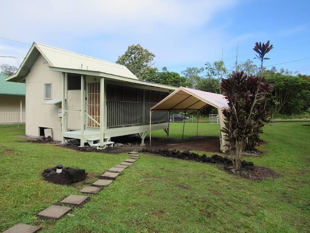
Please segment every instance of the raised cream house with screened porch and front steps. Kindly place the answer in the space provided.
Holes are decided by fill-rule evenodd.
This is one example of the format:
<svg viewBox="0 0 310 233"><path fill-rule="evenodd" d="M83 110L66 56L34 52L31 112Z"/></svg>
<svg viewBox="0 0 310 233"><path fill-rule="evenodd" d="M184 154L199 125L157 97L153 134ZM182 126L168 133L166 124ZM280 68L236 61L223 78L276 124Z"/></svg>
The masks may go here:
<svg viewBox="0 0 310 233"><path fill-rule="evenodd" d="M26 83L26 135L79 139L105 148L112 137L149 131L149 109L175 87L140 81L125 66L33 43L15 75ZM168 113L153 116L153 130L169 127Z"/></svg>

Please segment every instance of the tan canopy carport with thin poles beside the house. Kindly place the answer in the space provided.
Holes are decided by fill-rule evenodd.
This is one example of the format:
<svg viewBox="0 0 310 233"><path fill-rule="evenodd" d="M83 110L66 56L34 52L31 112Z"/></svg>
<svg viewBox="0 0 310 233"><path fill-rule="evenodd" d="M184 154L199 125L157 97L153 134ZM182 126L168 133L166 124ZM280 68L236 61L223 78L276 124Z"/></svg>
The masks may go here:
<svg viewBox="0 0 310 233"><path fill-rule="evenodd" d="M199 119L199 110L206 107L207 105L211 105L217 108L218 120L220 129L224 127L224 118L223 110L229 108L228 101L225 99L225 96L195 90L186 87L179 87L175 91L173 91L169 96L165 99L161 100L155 106L150 109L150 144L152 143L151 132L152 132L152 113L153 112L171 112L171 111L196 111L197 112L197 133L198 133L198 119ZM183 133L184 133L184 125L183 125ZM168 129L169 135L169 129ZM227 145L227 142L224 140L222 132L219 132L219 141L220 141L220 150L225 152L228 147L224 147Z"/></svg>

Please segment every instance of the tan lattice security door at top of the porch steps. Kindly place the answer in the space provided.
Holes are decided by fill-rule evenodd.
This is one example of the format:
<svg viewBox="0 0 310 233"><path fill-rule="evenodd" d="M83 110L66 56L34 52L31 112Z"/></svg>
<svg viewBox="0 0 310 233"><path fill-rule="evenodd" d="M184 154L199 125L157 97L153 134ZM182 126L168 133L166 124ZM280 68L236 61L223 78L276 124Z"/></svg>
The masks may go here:
<svg viewBox="0 0 310 233"><path fill-rule="evenodd" d="M100 123L100 83L88 83L88 114ZM88 127L99 128L100 125L88 117Z"/></svg>

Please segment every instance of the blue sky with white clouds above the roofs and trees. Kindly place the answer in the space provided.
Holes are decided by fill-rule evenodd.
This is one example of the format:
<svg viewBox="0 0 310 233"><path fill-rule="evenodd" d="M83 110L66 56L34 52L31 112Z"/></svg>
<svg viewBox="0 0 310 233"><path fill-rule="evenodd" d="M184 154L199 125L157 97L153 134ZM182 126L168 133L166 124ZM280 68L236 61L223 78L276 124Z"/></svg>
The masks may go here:
<svg viewBox="0 0 310 233"><path fill-rule="evenodd" d="M255 57L255 42L270 40L264 66L310 75L309 9L309 0L4 1L0 64L18 67L3 56L22 62L33 41L110 62L139 43L159 70L180 73L222 58L233 68L237 44L242 62Z"/></svg>

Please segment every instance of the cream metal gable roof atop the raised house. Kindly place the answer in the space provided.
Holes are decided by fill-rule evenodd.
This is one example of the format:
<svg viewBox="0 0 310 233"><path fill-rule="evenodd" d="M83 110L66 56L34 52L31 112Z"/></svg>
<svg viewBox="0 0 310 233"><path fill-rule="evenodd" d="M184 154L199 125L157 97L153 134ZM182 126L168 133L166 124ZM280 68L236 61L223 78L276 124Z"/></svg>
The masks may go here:
<svg viewBox="0 0 310 233"><path fill-rule="evenodd" d="M138 80L138 78L123 65L35 42L33 42L31 49L18 68L16 74L10 76L6 80L11 82L25 82L26 76L29 74L31 67L40 54L46 59L49 67L98 71L104 74Z"/></svg>

